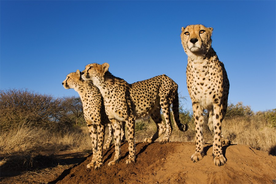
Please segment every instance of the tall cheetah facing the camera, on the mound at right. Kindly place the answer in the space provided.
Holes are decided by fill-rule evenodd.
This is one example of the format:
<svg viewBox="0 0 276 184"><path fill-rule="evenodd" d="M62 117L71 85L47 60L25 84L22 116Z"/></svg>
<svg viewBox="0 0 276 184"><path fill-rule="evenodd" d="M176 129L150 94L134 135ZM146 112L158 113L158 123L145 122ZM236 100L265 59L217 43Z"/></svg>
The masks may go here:
<svg viewBox="0 0 276 184"><path fill-rule="evenodd" d="M188 25L182 27L180 35L184 51L188 55L186 69L187 88L192 100L196 151L191 160L197 162L204 156L202 123L204 121L203 111L209 112L208 125L214 131L213 161L215 165L224 165L226 159L222 154L221 125L227 110L229 94L229 80L224 64L219 61L213 50L211 35L213 28L203 25Z"/></svg>

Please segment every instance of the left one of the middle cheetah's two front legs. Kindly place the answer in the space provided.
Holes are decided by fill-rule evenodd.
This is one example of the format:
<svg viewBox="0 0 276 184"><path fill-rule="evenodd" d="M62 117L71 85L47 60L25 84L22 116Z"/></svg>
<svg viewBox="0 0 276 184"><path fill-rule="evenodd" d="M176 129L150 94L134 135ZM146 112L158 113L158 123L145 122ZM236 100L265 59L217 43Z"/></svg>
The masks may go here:
<svg viewBox="0 0 276 184"><path fill-rule="evenodd" d="M121 158L121 123L115 119L111 119L110 121L112 123L112 128L114 132L115 156L114 159L107 164L108 166L118 163L119 159Z"/></svg>

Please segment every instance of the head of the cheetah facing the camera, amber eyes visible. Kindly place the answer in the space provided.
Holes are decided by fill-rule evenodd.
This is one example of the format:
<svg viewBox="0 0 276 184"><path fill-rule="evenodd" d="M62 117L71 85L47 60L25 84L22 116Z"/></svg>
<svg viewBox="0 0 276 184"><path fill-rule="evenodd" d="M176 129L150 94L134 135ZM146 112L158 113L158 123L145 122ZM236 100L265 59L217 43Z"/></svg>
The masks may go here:
<svg viewBox="0 0 276 184"><path fill-rule="evenodd" d="M211 35L213 28L206 28L204 25L188 25L182 27L180 35L184 51L189 57L202 56L211 48Z"/></svg>

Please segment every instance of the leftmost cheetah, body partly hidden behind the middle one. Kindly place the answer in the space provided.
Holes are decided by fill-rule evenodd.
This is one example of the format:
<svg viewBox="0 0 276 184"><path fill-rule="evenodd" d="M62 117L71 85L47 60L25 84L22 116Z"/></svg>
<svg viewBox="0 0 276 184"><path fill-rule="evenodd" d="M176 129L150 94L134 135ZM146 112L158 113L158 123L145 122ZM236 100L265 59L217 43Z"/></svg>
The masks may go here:
<svg viewBox="0 0 276 184"><path fill-rule="evenodd" d="M65 89L74 89L79 93L82 101L83 113L86 124L89 129L90 138L92 140L93 157L87 168L94 167L95 170L102 166L102 149L110 148L113 134L110 121L105 113L103 98L99 89L93 85L92 81L83 81L79 70L72 72L66 76L62 82ZM108 125L109 136L104 143L105 126ZM125 123L123 123L125 125ZM122 141L125 140L124 129L122 129ZM97 136L98 131L98 136Z"/></svg>

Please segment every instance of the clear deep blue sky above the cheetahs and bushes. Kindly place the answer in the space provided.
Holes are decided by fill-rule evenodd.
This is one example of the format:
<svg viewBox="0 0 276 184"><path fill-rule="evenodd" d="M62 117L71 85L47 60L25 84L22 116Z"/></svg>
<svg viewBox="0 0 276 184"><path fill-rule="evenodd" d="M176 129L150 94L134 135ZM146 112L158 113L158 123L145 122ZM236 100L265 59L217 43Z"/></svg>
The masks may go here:
<svg viewBox="0 0 276 184"><path fill-rule="evenodd" d="M128 83L166 74L191 100L181 27L213 27L228 102L276 108L276 1L0 1L1 90L78 96L61 82L89 63Z"/></svg>

